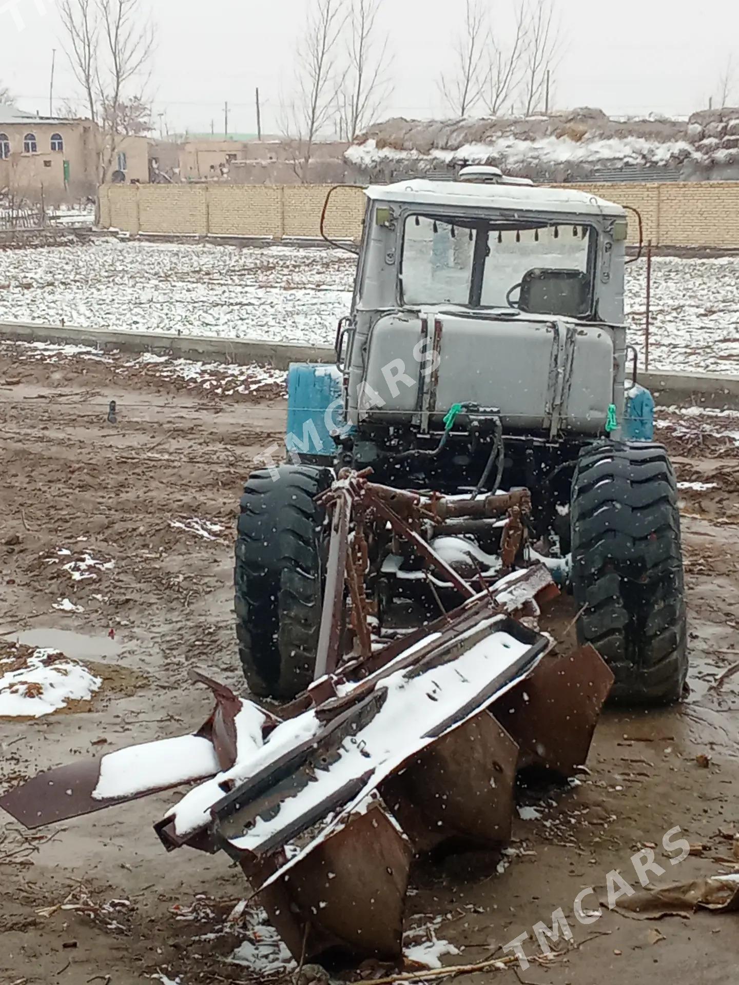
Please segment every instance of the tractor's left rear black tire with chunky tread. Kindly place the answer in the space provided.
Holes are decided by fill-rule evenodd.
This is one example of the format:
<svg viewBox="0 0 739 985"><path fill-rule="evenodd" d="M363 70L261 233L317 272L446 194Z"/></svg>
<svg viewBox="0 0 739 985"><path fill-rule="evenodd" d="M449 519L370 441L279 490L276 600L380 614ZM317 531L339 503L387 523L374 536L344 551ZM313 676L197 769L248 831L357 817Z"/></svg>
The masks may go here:
<svg viewBox="0 0 739 985"><path fill-rule="evenodd" d="M290 699L313 679L322 602L325 511L314 497L333 473L281 465L254 472L235 545L238 654L249 689Z"/></svg>

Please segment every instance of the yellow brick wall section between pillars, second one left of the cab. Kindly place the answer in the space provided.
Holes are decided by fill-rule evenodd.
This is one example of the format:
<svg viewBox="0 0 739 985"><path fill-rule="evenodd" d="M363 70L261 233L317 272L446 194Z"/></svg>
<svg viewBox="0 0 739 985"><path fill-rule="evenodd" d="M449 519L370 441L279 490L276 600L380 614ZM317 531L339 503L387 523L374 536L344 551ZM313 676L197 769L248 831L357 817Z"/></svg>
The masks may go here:
<svg viewBox="0 0 739 985"><path fill-rule="evenodd" d="M212 235L283 235L281 185L213 185L208 192Z"/></svg>

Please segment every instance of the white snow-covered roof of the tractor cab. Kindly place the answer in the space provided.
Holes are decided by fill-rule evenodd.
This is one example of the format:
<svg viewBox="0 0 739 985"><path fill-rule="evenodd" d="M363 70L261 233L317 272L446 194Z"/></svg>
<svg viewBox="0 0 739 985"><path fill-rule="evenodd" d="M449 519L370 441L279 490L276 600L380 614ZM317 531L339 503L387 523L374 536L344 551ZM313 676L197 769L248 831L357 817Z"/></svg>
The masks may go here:
<svg viewBox="0 0 739 985"><path fill-rule="evenodd" d="M553 215L611 216L623 219L620 205L576 188L508 185L472 181L432 181L411 178L388 185L370 185L368 198L415 206L463 209L517 209Z"/></svg>

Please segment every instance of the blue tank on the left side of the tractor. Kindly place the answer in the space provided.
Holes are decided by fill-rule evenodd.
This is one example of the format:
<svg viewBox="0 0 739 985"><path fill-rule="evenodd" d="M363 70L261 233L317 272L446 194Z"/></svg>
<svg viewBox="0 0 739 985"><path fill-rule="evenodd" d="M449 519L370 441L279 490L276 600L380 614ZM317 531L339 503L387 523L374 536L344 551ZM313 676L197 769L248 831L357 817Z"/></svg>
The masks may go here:
<svg viewBox="0 0 739 985"><path fill-rule="evenodd" d="M288 451L302 456L333 458L336 442L331 431L343 427L344 423L342 376L338 368L312 362L291 362L285 435Z"/></svg>

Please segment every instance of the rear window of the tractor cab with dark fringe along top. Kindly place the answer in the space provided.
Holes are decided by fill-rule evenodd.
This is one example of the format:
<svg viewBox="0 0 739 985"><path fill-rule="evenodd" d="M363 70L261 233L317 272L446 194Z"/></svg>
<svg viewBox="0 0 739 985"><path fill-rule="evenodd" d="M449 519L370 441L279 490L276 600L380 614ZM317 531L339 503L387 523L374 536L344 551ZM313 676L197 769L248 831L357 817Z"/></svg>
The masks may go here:
<svg viewBox="0 0 739 985"><path fill-rule="evenodd" d="M582 317L592 308L594 247L589 226L409 216L403 301Z"/></svg>

